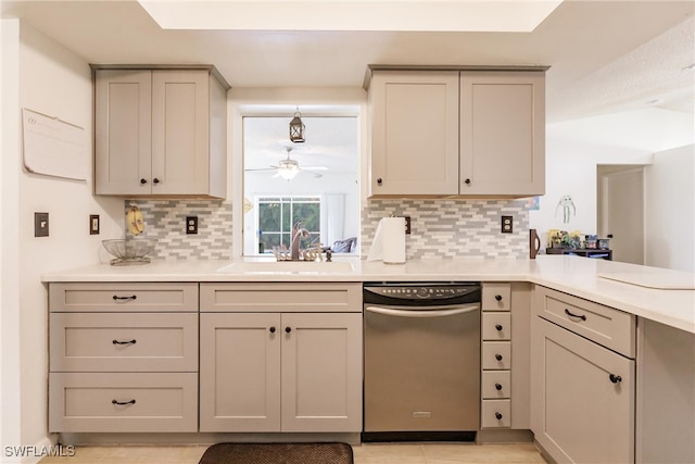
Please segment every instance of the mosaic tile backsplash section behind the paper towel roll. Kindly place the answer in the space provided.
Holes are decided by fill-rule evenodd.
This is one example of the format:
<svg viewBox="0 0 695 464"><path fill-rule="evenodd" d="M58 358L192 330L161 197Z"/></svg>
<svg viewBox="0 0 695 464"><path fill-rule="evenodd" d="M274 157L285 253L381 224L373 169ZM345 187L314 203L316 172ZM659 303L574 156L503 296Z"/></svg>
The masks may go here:
<svg viewBox="0 0 695 464"><path fill-rule="evenodd" d="M379 199L362 209L362 255L367 256L379 220L410 216L406 259L463 256L526 258L526 200ZM501 234L502 215L514 216L514 233Z"/></svg>

